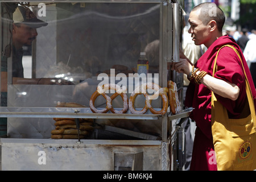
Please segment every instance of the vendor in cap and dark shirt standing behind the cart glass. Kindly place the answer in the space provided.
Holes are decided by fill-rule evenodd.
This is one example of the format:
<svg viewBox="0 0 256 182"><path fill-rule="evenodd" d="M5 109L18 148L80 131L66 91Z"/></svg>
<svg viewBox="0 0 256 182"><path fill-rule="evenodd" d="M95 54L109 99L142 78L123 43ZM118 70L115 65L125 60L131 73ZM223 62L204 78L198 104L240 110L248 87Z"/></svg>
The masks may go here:
<svg viewBox="0 0 256 182"><path fill-rule="evenodd" d="M38 32L36 28L47 26L48 23L36 18L30 9L16 7L13 13L12 44L6 46L1 56L1 106L7 106L7 58L12 56L13 84L73 84L60 78L24 78L23 46L31 46ZM12 53L12 55L11 55ZM6 133L6 118L0 119L0 136Z"/></svg>

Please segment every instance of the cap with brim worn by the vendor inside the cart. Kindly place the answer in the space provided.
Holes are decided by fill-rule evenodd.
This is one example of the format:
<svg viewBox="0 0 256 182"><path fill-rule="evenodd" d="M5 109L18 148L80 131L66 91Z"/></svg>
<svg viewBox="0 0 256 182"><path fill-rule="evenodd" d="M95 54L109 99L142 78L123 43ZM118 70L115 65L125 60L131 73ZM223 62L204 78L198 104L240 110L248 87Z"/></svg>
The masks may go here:
<svg viewBox="0 0 256 182"><path fill-rule="evenodd" d="M36 15L27 7L18 6L13 13L14 23L24 23L27 26L39 28L47 26L48 23L36 18Z"/></svg>

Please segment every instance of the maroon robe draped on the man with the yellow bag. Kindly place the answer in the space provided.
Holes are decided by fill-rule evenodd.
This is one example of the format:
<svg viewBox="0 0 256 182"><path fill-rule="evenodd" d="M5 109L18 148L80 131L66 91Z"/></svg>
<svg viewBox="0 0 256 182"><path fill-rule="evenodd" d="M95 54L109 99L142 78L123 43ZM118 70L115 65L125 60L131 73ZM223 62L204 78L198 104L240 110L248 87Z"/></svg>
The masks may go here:
<svg viewBox="0 0 256 182"><path fill-rule="evenodd" d="M256 104L256 91L251 78L249 67L243 57L240 47L236 41L229 36L218 38L195 64L196 68L206 71L212 76L214 59L218 49L230 44L235 47L243 61L250 88L253 93L254 105ZM232 48L224 47L217 57L217 72L214 77L236 84L240 88L240 94L236 101L216 95L218 101L226 107L230 118L239 118L242 108L245 106L246 90L245 76L241 61ZM192 153L191 170L217 170L214 158L214 146L211 129L211 91L203 84L197 85L191 81L186 94L185 106L194 107L191 117L196 122L196 133Z"/></svg>

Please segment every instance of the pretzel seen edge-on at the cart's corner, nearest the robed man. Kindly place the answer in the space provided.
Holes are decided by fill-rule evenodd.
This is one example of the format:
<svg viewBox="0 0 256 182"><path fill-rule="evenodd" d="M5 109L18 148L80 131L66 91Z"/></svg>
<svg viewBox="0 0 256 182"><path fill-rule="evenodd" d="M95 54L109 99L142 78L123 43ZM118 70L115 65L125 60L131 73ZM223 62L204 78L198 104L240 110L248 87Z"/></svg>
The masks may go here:
<svg viewBox="0 0 256 182"><path fill-rule="evenodd" d="M168 98L171 112L172 114L177 114L181 110L181 104L177 95L177 85L175 82L169 80L167 86L169 89Z"/></svg>

